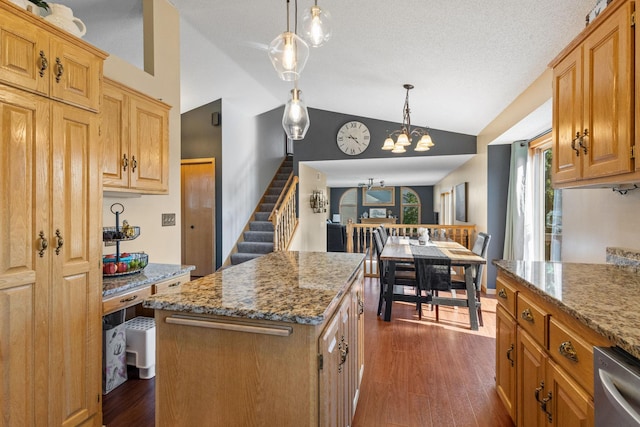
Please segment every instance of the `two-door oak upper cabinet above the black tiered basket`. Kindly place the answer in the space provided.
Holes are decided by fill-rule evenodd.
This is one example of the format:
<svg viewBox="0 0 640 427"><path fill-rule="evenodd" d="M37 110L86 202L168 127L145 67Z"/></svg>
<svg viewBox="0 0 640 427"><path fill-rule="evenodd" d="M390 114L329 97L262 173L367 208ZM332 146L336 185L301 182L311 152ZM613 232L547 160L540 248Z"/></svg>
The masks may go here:
<svg viewBox="0 0 640 427"><path fill-rule="evenodd" d="M161 101L105 79L101 125L105 190L168 192L169 109Z"/></svg>

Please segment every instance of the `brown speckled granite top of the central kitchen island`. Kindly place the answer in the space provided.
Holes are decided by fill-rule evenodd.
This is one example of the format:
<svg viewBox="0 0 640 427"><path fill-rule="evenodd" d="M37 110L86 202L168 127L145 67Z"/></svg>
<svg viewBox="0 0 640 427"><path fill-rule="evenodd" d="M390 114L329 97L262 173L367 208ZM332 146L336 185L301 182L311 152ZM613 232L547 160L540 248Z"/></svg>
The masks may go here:
<svg viewBox="0 0 640 427"><path fill-rule="evenodd" d="M364 254L280 251L147 297L160 310L323 323L362 268Z"/></svg>

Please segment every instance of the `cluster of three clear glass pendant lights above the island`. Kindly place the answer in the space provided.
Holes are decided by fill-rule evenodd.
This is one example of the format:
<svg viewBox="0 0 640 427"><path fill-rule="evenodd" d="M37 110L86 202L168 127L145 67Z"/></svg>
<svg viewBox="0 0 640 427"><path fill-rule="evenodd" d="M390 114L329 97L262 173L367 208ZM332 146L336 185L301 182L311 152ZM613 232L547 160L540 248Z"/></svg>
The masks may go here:
<svg viewBox="0 0 640 427"><path fill-rule="evenodd" d="M298 31L298 0L295 0L295 16L293 32L289 28L289 3L287 1L287 30L273 39L269 45L271 64L284 81L292 81L291 98L287 101L282 116L282 127L291 140L303 139L309 129L309 112L302 100L302 91L298 89L298 79L307 59L309 44L312 47L322 46L331 38L331 15L314 5L305 11L303 16L303 40Z"/></svg>

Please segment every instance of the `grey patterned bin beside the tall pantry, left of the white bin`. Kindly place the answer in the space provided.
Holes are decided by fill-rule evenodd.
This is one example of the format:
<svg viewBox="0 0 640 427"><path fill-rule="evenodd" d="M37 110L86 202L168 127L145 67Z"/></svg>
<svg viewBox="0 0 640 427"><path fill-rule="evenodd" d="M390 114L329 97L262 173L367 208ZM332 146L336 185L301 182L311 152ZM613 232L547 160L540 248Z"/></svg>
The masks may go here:
<svg viewBox="0 0 640 427"><path fill-rule="evenodd" d="M126 310L102 317L102 393L127 380Z"/></svg>

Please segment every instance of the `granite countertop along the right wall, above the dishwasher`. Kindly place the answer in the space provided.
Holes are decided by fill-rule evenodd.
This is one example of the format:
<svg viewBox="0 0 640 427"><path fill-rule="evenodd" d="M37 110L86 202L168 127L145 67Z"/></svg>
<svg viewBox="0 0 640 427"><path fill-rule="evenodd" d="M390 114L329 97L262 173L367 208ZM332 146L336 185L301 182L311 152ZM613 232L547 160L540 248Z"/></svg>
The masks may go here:
<svg viewBox="0 0 640 427"><path fill-rule="evenodd" d="M506 260L493 263L640 359L640 268Z"/></svg>

